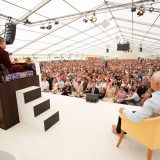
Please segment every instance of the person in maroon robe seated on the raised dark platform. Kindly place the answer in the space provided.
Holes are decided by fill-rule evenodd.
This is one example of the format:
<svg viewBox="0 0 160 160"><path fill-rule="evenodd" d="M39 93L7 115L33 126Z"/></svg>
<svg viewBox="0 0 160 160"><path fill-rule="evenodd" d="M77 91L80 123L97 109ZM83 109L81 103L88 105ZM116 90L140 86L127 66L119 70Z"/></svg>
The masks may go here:
<svg viewBox="0 0 160 160"><path fill-rule="evenodd" d="M9 73L23 72L27 69L27 64L12 64L9 58L9 53L5 51L6 41L4 38L0 37L0 64L3 64L7 67Z"/></svg>

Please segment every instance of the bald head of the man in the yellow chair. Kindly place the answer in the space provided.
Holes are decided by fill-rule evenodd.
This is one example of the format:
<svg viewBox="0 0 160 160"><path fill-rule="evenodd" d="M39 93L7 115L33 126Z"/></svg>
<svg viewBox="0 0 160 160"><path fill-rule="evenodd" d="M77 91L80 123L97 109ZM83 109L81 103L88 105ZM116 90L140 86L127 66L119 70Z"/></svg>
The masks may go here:
<svg viewBox="0 0 160 160"><path fill-rule="evenodd" d="M151 77L151 88L160 91L160 71L154 72Z"/></svg>

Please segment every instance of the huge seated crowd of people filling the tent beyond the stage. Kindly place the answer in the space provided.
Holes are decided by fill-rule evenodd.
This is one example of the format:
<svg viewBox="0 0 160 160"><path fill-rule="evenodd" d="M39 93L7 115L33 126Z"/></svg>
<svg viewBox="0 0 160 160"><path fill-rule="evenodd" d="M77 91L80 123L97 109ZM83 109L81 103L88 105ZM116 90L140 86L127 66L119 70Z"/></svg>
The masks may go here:
<svg viewBox="0 0 160 160"><path fill-rule="evenodd" d="M143 105L160 60L64 60L41 62L42 91L66 96L98 94L104 101Z"/></svg>

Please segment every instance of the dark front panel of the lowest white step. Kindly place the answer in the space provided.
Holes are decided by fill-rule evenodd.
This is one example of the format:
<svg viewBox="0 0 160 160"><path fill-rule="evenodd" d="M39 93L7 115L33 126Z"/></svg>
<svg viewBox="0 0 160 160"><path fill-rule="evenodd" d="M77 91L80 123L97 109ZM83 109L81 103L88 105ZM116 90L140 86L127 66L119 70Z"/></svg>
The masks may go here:
<svg viewBox="0 0 160 160"><path fill-rule="evenodd" d="M59 121L59 111L44 121L45 131L47 131L49 128L51 128L58 121Z"/></svg>

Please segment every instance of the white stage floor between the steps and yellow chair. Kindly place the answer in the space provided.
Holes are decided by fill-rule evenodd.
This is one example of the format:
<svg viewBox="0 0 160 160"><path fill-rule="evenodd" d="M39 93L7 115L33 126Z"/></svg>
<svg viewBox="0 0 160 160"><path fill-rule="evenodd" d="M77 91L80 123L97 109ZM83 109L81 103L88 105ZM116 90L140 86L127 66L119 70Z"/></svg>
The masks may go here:
<svg viewBox="0 0 160 160"><path fill-rule="evenodd" d="M122 105L43 96L51 97L51 107L60 111L60 121L47 132L22 123L7 131L0 129L0 150L16 160L146 160L147 148L129 136L116 148L118 136L112 133L111 125L117 122ZM156 150L153 160L159 159L160 150ZM0 160L4 160L1 155Z"/></svg>

